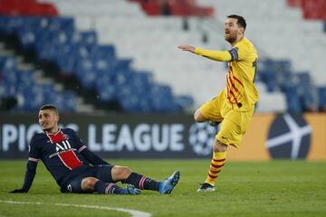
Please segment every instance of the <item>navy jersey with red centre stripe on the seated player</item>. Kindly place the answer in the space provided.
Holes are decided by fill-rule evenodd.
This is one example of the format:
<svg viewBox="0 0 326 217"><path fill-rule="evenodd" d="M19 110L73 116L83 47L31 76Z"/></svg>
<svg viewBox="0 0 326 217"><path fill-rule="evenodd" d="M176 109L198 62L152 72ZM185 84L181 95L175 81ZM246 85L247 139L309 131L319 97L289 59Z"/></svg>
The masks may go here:
<svg viewBox="0 0 326 217"><path fill-rule="evenodd" d="M28 161L37 163L39 159L59 185L73 174L82 173L82 168L87 167L82 165L108 165L91 153L71 128L62 128L56 134L44 132L34 135Z"/></svg>

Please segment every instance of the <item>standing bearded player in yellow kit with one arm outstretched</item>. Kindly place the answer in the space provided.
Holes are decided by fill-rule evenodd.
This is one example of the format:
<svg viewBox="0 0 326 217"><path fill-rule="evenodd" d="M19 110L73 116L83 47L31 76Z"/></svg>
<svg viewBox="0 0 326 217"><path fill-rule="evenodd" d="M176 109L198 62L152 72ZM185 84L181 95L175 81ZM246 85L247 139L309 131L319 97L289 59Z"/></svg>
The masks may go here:
<svg viewBox="0 0 326 217"><path fill-rule="evenodd" d="M207 51L191 45L178 48L193 52L214 61L227 61L226 87L214 99L204 103L195 112L197 122L222 122L213 147L213 159L205 183L197 192L214 192L217 175L226 160L228 146L238 147L254 113L258 92L254 87L257 68L257 52L254 44L245 38L245 19L229 15L225 21L225 40L232 48L229 51Z"/></svg>

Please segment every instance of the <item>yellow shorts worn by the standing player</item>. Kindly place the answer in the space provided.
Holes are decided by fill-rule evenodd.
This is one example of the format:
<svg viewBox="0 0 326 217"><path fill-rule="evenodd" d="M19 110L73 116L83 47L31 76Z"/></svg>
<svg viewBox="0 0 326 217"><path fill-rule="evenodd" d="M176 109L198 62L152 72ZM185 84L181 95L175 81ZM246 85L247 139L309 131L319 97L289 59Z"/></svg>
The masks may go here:
<svg viewBox="0 0 326 217"><path fill-rule="evenodd" d="M238 147L253 116L254 108L249 111L232 109L226 104L222 91L216 98L204 103L200 111L205 118L222 122L221 129L216 135L218 141Z"/></svg>

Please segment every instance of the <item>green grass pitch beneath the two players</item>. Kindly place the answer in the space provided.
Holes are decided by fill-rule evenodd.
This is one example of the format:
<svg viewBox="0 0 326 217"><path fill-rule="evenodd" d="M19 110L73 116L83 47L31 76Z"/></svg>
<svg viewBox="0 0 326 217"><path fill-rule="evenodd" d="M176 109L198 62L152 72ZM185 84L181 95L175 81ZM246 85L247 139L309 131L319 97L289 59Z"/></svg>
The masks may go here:
<svg viewBox="0 0 326 217"><path fill-rule="evenodd" d="M215 193L197 193L209 160L114 160L140 174L161 180L178 169L181 179L170 195L63 194L53 177L38 165L29 193L8 193L24 180L24 161L0 161L0 201L41 202L42 205L0 203L6 216L129 216L126 212L54 206L53 203L120 207L152 216L326 216L326 162L228 162Z"/></svg>

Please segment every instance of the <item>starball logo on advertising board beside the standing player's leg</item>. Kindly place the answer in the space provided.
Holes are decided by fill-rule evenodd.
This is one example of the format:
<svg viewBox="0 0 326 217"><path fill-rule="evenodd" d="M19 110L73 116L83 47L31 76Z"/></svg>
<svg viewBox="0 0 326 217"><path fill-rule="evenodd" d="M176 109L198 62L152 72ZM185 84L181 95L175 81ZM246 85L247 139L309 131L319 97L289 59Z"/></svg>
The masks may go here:
<svg viewBox="0 0 326 217"><path fill-rule="evenodd" d="M189 144L198 156L209 156L216 137L216 127L208 123L196 123L189 129Z"/></svg>

